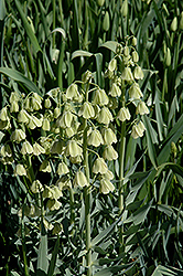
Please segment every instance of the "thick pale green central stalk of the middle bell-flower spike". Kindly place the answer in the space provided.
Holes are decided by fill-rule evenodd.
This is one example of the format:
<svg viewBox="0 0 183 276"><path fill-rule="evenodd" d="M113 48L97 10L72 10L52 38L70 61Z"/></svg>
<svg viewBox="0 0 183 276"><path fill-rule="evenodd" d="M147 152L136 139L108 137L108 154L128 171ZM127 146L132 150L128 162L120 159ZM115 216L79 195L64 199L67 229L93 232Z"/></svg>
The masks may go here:
<svg viewBox="0 0 183 276"><path fill-rule="evenodd" d="M89 87L89 86L88 86ZM86 100L88 100L88 87L86 91ZM84 119L84 137L83 137L83 151L84 151L84 168L85 174L89 183L89 163L88 163L88 151L87 151L87 119ZM88 267L87 276L92 276L92 250L90 250L90 187L85 187L84 199L85 199L85 227L86 227L86 264Z"/></svg>

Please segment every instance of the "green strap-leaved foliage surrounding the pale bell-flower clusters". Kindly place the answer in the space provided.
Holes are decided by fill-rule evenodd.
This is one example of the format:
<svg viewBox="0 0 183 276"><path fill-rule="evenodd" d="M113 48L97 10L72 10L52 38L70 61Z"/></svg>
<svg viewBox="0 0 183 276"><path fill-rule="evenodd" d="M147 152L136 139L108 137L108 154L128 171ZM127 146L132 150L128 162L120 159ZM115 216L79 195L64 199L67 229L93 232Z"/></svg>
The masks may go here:
<svg viewBox="0 0 183 276"><path fill-rule="evenodd" d="M87 70L101 88L109 89L105 72L115 55L116 42L123 43L127 35L137 38L139 65L144 73L139 84L150 115L143 118L147 130L141 139L127 137L122 222L118 191L107 195L93 191L93 274L182 275L182 1L0 0L1 108L9 104L11 92L24 96L35 92L44 103L52 89L65 92ZM53 98L52 104L55 107ZM43 107L41 113L46 110ZM1 130L3 145L7 136L3 137L2 126ZM118 125L116 130L119 132ZM37 131L29 135L32 142L40 137ZM45 185L57 179L54 169L52 173L39 171L43 160L41 156L33 166ZM56 161L52 168L56 168ZM25 185L13 170L13 166L1 162L2 273L86 275L82 191L74 191L73 200L69 190L65 190L60 200L62 209L46 214L49 222L63 225L62 233L54 235L44 229L39 215L18 215L32 202L32 194L30 183ZM111 170L117 174L117 168Z"/></svg>

